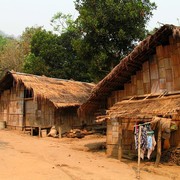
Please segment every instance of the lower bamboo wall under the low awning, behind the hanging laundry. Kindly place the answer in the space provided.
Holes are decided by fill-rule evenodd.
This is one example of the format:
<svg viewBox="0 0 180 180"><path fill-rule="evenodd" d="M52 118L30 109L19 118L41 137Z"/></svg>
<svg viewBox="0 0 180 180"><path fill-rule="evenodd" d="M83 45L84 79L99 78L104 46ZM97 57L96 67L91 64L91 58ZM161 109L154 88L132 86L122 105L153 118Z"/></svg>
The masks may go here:
<svg viewBox="0 0 180 180"><path fill-rule="evenodd" d="M174 117L178 130L172 131L170 136L170 147L176 147L180 143L180 115ZM150 121L150 119L142 119L144 122ZM122 153L125 156L134 157L137 155L135 150L135 140L134 140L134 125L135 122L140 121L140 119L128 119L128 118L111 118L107 121L107 135L106 153L108 156L118 158L119 154L119 144L121 137L121 148ZM155 139L157 142L157 131L155 131ZM163 146L162 146L163 149Z"/></svg>

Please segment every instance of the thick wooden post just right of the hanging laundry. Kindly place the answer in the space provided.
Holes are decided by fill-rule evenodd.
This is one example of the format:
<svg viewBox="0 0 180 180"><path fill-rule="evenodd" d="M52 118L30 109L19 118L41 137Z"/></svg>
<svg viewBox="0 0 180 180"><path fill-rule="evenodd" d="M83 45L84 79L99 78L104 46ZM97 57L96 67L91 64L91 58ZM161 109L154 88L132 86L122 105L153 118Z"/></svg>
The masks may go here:
<svg viewBox="0 0 180 180"><path fill-rule="evenodd" d="M156 167L159 165L159 162L161 160L161 131L162 131L162 126L161 126L161 122L159 120L159 122L158 122L157 155L156 155L156 162L155 162Z"/></svg>

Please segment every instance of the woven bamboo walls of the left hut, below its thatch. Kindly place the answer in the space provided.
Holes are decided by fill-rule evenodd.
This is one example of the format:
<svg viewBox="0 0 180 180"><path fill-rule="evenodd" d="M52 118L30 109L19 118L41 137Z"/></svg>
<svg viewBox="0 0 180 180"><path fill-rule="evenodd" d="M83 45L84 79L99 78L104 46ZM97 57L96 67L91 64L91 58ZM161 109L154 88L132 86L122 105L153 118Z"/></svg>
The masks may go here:
<svg viewBox="0 0 180 180"><path fill-rule="evenodd" d="M6 121L11 129L23 129L24 126L51 127L61 126L62 132L73 126L80 126L77 107L55 108L48 100L33 97L24 98L24 87L13 87L0 97L1 121ZM31 93L32 94L32 93Z"/></svg>

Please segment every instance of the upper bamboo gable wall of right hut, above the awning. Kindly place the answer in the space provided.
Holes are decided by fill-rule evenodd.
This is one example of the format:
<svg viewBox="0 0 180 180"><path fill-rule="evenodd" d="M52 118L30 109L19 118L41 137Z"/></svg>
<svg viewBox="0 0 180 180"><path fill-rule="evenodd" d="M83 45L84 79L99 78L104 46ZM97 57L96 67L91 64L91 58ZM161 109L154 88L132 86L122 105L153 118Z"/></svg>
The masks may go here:
<svg viewBox="0 0 180 180"><path fill-rule="evenodd" d="M112 92L108 108L128 96L180 90L180 40L169 37L169 43L156 47L156 54L147 58L142 69L131 76L131 82L124 84L124 90Z"/></svg>

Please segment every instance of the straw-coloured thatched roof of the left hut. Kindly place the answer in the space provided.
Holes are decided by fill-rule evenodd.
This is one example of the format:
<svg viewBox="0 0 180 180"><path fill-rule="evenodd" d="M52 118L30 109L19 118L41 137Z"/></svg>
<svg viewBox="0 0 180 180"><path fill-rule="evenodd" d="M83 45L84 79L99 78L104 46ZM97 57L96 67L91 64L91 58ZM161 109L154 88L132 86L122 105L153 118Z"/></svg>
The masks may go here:
<svg viewBox="0 0 180 180"><path fill-rule="evenodd" d="M45 98L56 107L80 106L94 87L92 83L9 71L0 81L0 92L18 85L32 90L34 98Z"/></svg>

